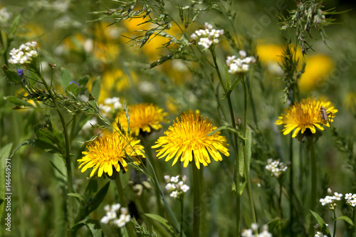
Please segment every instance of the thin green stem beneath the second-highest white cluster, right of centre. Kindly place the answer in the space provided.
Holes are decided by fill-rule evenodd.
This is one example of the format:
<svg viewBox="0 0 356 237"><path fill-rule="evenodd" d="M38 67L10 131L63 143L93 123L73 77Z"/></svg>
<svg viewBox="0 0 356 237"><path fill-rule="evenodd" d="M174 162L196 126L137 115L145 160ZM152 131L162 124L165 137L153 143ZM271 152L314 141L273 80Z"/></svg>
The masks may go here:
<svg viewBox="0 0 356 237"><path fill-rule="evenodd" d="M244 129L244 137L246 137L246 127L247 127L247 90L246 90L246 82L244 80L241 80L241 82L242 82L242 87L244 88L244 128L243 129ZM243 147L243 150L244 150L244 165L245 165L246 182L247 182L247 190L248 190L248 199L250 201L252 221L253 221L253 223L257 223L255 207L254 207L254 204L253 204L253 195L252 195L249 167L248 167L248 161L247 161L246 141L245 140L242 140L242 147Z"/></svg>

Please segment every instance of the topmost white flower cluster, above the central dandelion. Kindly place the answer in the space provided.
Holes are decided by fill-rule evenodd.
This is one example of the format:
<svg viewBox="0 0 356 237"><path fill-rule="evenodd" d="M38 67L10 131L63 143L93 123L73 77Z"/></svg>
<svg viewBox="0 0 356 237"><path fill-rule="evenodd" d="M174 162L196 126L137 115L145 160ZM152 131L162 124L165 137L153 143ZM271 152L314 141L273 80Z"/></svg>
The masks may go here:
<svg viewBox="0 0 356 237"><path fill-rule="evenodd" d="M190 36L194 41L198 42L199 46L203 46L208 49L211 44L219 43L219 38L224 34L224 30L216 30L209 23L205 23L204 29L200 29L199 31L195 31ZM199 39L199 41L198 41Z"/></svg>

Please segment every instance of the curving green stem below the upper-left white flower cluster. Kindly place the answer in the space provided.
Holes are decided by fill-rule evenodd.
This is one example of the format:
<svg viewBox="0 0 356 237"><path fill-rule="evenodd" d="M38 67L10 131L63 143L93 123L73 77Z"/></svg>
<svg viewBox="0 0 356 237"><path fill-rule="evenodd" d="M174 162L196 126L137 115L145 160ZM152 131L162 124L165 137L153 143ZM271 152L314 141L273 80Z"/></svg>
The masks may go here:
<svg viewBox="0 0 356 237"><path fill-rule="evenodd" d="M54 97L51 88L49 88L48 84L46 83L46 80L43 78L41 75L41 72L38 71L36 68L36 74L38 75L39 78L41 78L41 81L43 85L46 87L46 90L48 91L48 94L53 102L53 105L56 107L56 110L58 112L58 115L61 119L62 127L63 127L63 135L64 135L64 140L66 142L66 169L67 169L67 193L73 193L73 177L72 177L72 168L70 164L70 140L69 140L69 135L68 135L68 127L66 124L66 120L64 119L63 113L61 112L61 108L58 106L58 103L56 101L56 98ZM70 231L71 226L74 224L74 216L71 211L71 207L74 205L73 197L66 195L67 199L67 215L68 215L68 223L67 223L67 228L68 228L68 236L72 236L72 232Z"/></svg>

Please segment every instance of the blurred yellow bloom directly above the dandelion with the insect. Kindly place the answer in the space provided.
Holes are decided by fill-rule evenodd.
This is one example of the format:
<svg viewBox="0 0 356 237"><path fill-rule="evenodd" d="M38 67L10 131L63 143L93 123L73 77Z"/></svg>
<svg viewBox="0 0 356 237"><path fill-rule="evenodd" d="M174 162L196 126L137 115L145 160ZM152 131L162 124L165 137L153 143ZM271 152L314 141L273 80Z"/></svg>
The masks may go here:
<svg viewBox="0 0 356 237"><path fill-rule="evenodd" d="M333 61L326 55L306 56L305 73L302 74L298 83L300 92L308 93L313 90L332 68Z"/></svg>

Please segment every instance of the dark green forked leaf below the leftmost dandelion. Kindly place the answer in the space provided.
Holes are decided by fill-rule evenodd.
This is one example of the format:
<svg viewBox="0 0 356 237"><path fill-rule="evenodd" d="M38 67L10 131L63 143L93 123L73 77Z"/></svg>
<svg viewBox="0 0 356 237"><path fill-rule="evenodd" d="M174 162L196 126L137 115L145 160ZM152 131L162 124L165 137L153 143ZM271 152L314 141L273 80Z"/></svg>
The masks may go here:
<svg viewBox="0 0 356 237"><path fill-rule="evenodd" d="M108 181L103 188L101 188L95 195L95 191L98 189L98 184L96 181L89 182L87 188L85 189L83 199L85 201L80 202L80 211L78 216L75 218L75 221L81 221L83 218L88 216L90 212L94 211L101 204L103 199L105 198L106 193L108 192L110 186L110 181Z"/></svg>

